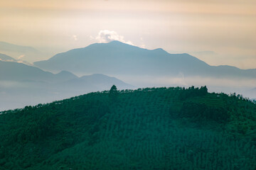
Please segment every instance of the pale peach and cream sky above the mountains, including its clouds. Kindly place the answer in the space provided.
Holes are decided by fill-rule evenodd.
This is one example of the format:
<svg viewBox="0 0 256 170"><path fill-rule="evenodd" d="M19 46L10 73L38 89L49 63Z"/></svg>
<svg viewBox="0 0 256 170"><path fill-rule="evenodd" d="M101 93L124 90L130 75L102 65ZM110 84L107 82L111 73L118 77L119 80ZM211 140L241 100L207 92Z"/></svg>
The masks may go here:
<svg viewBox="0 0 256 170"><path fill-rule="evenodd" d="M0 1L0 41L50 52L119 40L256 68L255 0Z"/></svg>

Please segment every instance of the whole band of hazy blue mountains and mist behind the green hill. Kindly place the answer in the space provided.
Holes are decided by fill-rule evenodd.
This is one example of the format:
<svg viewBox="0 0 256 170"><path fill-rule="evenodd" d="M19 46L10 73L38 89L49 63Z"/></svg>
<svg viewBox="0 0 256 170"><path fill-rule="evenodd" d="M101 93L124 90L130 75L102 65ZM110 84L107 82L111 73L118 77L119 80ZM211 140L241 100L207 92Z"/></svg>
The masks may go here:
<svg viewBox="0 0 256 170"><path fill-rule="evenodd" d="M20 62L23 61L0 54L0 108L2 110L47 103L91 91L103 91L110 89L113 84L118 89L134 88L114 77L137 86L141 86L137 81L144 79L154 81L156 86L163 86L160 84L159 77L166 80L178 75L181 76L181 81L184 81L185 77L192 78L193 81L188 82L191 80L188 79L180 83L178 79L173 84L167 81L164 86L192 86L199 80L198 86L207 85L210 91L237 92L250 98L255 98L256 95L255 90L251 90L255 88L253 82L256 80L256 69L210 66L185 53L169 54L161 48L146 50L119 41L95 43L84 48L62 52L49 60L34 62L33 66ZM91 75L78 77L73 73ZM104 74L114 77L107 77ZM132 79L125 79L126 76ZM208 84L205 81L207 79L210 79ZM220 79L220 82L216 83L216 79ZM235 79L235 81L223 81L223 79ZM249 81L251 87L244 88L239 85L245 79L253 80ZM146 84L146 86L152 85Z"/></svg>

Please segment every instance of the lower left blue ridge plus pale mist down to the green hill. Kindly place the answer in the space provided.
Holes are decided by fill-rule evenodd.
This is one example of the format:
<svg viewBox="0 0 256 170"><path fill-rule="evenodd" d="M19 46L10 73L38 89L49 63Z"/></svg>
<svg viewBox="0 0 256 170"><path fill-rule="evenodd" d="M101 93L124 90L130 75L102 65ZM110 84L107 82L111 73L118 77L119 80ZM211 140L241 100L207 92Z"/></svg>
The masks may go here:
<svg viewBox="0 0 256 170"><path fill-rule="evenodd" d="M103 91L113 84L118 89L134 88L104 74L77 77L67 71L53 74L23 63L0 61L0 111Z"/></svg>

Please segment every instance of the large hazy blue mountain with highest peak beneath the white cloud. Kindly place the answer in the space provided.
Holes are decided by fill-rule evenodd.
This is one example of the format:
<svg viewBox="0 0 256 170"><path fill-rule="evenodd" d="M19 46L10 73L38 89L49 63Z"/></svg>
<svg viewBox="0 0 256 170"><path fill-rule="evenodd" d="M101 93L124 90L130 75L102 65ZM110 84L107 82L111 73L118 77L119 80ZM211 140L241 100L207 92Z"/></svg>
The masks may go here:
<svg viewBox="0 0 256 170"><path fill-rule="evenodd" d="M70 72L185 77L247 77L256 78L256 69L212 67L188 54L169 54L162 49L146 50L119 41L95 43L84 48L69 50L35 62L50 71L64 68ZM235 69L235 73L233 70ZM236 74L238 73L238 74Z"/></svg>

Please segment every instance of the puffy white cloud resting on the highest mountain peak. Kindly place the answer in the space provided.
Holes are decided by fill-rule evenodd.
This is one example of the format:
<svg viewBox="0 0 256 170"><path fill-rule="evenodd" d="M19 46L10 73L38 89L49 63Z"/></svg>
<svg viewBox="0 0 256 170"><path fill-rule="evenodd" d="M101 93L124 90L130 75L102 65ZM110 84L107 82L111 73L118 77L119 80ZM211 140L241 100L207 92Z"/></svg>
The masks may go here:
<svg viewBox="0 0 256 170"><path fill-rule="evenodd" d="M90 36L90 38L93 38ZM112 40L118 40L120 42L127 43L129 45L133 45L131 41L124 40L124 36L118 35L114 30L100 30L96 38L93 38L99 42L110 42Z"/></svg>

